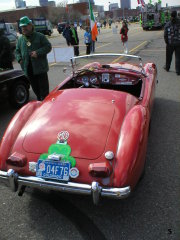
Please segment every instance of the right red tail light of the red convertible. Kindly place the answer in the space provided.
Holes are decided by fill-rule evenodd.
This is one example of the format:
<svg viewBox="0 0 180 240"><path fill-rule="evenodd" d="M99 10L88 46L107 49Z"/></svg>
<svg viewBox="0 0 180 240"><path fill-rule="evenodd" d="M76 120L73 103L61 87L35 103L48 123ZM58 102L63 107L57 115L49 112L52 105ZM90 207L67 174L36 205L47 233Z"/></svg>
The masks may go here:
<svg viewBox="0 0 180 240"><path fill-rule="evenodd" d="M112 166L109 162L91 163L88 171L92 177L108 177L112 172Z"/></svg>

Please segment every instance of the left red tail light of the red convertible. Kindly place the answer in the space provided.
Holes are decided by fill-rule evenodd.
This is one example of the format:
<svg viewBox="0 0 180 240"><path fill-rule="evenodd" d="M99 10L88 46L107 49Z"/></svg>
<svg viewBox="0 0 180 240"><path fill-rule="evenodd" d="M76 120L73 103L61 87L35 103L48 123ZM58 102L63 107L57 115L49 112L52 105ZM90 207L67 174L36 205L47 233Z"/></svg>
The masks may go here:
<svg viewBox="0 0 180 240"><path fill-rule="evenodd" d="M26 156L21 154L21 153L17 153L14 152L13 154L11 154L11 156L6 160L6 163L8 165L12 165L12 166L16 166L16 167L24 167L26 166L27 163L27 159Z"/></svg>

